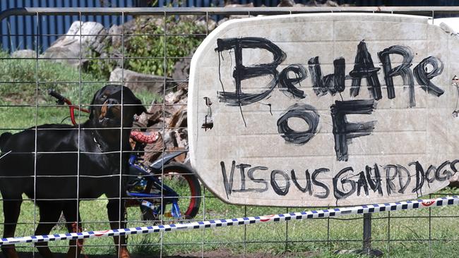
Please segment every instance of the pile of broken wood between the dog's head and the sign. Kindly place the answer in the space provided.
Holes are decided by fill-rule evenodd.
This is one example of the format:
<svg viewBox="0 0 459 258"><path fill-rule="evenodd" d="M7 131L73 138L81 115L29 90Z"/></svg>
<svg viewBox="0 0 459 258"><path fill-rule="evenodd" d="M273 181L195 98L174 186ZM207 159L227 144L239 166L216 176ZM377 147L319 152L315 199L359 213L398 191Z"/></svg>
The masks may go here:
<svg viewBox="0 0 459 258"><path fill-rule="evenodd" d="M186 104L188 101L188 85L182 83L166 92L161 102L154 101L148 113L143 113L138 119L138 126L147 128L147 132L160 133L159 139L145 146L143 159L151 164L158 159L162 152L188 149L188 130L186 128ZM179 162L187 160L188 153L176 158Z"/></svg>

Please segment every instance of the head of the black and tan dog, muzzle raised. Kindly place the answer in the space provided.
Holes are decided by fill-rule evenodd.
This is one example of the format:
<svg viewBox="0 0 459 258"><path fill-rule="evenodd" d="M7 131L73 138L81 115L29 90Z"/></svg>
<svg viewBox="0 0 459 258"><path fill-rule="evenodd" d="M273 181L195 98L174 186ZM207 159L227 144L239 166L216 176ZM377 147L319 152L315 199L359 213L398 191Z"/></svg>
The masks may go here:
<svg viewBox="0 0 459 258"><path fill-rule="evenodd" d="M122 121L123 127L128 128L132 126L134 114L143 112L146 112L145 106L128 87L106 85L94 94L89 119L105 128L120 127Z"/></svg>

